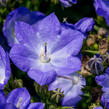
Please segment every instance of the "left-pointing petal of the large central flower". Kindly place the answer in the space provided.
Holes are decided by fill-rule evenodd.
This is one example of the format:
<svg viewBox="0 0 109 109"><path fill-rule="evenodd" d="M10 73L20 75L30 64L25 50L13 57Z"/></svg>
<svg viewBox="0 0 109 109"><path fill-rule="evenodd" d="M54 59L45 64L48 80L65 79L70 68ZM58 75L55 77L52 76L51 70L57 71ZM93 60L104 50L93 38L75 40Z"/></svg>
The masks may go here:
<svg viewBox="0 0 109 109"><path fill-rule="evenodd" d="M10 58L19 69L26 72L37 60L37 54L33 50L23 44L15 45L10 51Z"/></svg>

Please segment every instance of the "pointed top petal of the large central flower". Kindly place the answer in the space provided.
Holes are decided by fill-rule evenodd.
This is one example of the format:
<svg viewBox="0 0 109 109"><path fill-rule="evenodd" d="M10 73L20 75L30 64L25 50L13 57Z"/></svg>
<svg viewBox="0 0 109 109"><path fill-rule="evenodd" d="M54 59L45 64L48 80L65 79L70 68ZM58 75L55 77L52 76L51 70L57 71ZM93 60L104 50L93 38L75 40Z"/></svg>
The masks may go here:
<svg viewBox="0 0 109 109"><path fill-rule="evenodd" d="M40 39L44 42L55 39L55 36L60 32L60 22L54 13L48 15L37 25L37 31L40 34Z"/></svg>

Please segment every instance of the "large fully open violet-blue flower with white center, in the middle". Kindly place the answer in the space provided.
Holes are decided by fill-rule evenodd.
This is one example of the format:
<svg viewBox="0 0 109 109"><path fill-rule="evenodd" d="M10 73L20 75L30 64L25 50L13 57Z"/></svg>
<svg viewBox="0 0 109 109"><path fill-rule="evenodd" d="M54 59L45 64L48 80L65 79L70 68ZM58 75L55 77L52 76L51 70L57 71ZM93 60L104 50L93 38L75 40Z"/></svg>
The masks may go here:
<svg viewBox="0 0 109 109"><path fill-rule="evenodd" d="M49 84L56 74L66 75L81 69L81 61L76 55L84 36L75 29L62 26L54 13L34 28L16 22L15 32L20 43L12 47L10 57L38 84Z"/></svg>

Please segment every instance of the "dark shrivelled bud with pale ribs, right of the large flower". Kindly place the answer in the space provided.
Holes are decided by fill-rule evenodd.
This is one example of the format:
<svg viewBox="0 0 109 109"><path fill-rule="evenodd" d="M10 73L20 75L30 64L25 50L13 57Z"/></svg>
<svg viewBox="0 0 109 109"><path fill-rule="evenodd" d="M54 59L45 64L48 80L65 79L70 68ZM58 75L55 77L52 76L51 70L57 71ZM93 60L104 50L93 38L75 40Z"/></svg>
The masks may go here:
<svg viewBox="0 0 109 109"><path fill-rule="evenodd" d="M95 74L99 74L104 70L103 60L95 55L89 60L88 66L90 67L91 72Z"/></svg>

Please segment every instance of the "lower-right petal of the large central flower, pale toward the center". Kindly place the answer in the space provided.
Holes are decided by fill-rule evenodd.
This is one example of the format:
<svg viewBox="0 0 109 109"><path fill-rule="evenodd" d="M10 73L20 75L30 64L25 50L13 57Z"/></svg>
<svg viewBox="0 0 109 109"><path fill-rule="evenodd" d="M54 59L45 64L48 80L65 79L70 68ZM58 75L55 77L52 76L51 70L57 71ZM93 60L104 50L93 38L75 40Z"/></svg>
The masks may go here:
<svg viewBox="0 0 109 109"><path fill-rule="evenodd" d="M81 69L81 61L79 58L64 58L62 55L64 55L64 53L54 55L54 58L51 60L51 64L54 66L58 75L71 74Z"/></svg>

